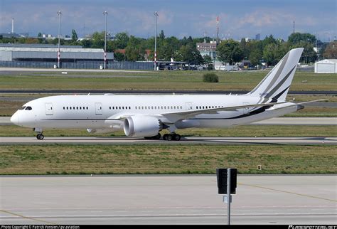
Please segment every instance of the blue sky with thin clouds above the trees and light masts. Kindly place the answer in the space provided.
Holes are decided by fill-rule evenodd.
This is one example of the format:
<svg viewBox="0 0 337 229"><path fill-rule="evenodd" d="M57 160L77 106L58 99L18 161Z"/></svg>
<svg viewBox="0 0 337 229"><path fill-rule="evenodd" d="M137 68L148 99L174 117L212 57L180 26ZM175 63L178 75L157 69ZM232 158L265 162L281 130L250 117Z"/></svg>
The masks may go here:
<svg viewBox="0 0 337 229"><path fill-rule="evenodd" d="M293 31L317 35L321 41L332 41L337 34L337 0L0 0L0 33L14 32L37 36L39 32L58 36L58 14L61 34L79 37L95 31L127 32L149 38L165 36L261 38L272 34L287 41Z"/></svg>

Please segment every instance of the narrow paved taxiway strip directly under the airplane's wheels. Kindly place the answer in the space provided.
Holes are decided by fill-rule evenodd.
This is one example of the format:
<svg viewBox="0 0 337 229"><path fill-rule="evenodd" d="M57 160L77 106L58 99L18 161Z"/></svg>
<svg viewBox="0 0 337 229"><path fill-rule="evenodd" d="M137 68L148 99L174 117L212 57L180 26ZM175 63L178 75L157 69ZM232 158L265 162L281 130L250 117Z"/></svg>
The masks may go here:
<svg viewBox="0 0 337 229"><path fill-rule="evenodd" d="M325 144L337 145L337 137L182 137L181 141L129 137L0 137L0 144Z"/></svg>

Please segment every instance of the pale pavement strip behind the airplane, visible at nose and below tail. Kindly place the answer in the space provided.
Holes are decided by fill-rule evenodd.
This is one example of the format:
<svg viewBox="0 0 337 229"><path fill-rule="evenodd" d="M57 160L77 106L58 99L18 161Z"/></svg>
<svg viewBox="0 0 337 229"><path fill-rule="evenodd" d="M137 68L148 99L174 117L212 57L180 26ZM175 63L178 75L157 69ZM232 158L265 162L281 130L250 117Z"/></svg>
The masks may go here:
<svg viewBox="0 0 337 229"><path fill-rule="evenodd" d="M11 117L0 117L0 125L13 124ZM251 125L337 125L337 117L275 117Z"/></svg>

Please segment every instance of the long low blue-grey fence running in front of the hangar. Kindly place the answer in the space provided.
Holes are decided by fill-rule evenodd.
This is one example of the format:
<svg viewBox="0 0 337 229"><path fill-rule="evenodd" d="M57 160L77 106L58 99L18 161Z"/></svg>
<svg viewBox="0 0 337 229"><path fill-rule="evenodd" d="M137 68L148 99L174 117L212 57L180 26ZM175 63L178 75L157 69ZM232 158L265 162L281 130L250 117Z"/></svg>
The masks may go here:
<svg viewBox="0 0 337 229"><path fill-rule="evenodd" d="M0 67L4 68L55 68L57 62L42 61L0 61ZM102 61L77 61L77 62L60 62L60 68L72 69L101 69L104 66ZM132 62L120 61L107 63L107 69L121 70L154 70L152 62Z"/></svg>

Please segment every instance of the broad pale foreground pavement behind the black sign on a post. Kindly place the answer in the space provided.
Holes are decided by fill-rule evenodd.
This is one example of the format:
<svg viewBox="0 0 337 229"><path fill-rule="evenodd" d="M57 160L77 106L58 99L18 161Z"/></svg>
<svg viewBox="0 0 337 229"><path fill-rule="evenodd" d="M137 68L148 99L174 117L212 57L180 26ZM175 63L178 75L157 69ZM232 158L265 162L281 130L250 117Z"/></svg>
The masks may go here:
<svg viewBox="0 0 337 229"><path fill-rule="evenodd" d="M216 176L0 176L0 224L225 224ZM232 224L336 225L337 176L237 176Z"/></svg>

